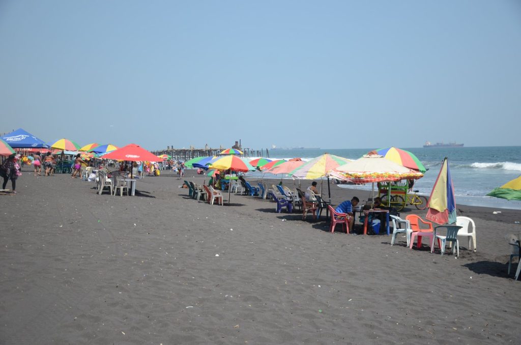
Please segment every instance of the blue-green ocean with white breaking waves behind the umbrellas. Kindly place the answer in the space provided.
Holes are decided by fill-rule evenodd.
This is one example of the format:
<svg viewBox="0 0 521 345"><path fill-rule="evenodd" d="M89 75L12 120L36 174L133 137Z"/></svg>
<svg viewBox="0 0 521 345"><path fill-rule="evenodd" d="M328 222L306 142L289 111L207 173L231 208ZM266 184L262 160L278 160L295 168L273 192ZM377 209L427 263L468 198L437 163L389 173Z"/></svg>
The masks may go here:
<svg viewBox="0 0 521 345"><path fill-rule="evenodd" d="M521 146L491 147L400 147L418 157L427 168L425 176L417 180L414 189L420 194L429 196L436 181L444 157L448 157L454 183L456 205L487 206L521 210L521 201L493 198L486 196L488 192L521 175ZM357 159L371 149L291 149L270 150L269 158L301 157L309 160L325 152ZM247 175L259 177L261 173L250 172ZM264 174L264 178L280 178L272 174ZM370 190L371 184L363 186L345 186Z"/></svg>

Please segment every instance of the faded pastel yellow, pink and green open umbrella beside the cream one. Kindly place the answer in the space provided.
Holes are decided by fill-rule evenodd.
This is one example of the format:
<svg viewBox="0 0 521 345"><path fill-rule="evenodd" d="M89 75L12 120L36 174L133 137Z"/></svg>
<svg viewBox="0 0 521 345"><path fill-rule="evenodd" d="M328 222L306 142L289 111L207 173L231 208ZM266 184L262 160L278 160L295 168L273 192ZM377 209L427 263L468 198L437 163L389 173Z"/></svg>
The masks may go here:
<svg viewBox="0 0 521 345"><path fill-rule="evenodd" d="M338 168L339 166L349 162L351 162L351 159L325 153L321 156L313 158L309 162L304 163L300 167L290 171L288 174L292 175L293 177L306 180L314 180L318 178L321 179L320 196L322 195L322 178L327 177L328 195L329 199L331 199L331 189L329 187L329 172L334 168Z"/></svg>

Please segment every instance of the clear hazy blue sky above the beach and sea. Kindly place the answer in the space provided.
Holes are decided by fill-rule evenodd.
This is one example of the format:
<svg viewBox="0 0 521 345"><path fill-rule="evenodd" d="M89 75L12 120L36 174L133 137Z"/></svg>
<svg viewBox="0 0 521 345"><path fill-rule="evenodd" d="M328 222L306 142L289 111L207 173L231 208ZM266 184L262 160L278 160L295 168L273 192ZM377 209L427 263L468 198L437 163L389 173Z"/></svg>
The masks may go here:
<svg viewBox="0 0 521 345"><path fill-rule="evenodd" d="M0 132L521 145L521 2L0 0Z"/></svg>

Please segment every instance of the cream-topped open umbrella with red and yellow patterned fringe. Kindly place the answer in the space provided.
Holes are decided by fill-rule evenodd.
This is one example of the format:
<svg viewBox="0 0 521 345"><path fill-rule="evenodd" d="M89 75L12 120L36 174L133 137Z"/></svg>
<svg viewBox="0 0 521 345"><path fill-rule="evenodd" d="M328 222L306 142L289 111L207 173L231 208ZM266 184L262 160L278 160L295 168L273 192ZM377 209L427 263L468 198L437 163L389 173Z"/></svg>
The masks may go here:
<svg viewBox="0 0 521 345"><path fill-rule="evenodd" d="M402 179L419 179L423 174L396 164L375 151L362 158L335 168L345 178L354 183L372 183L371 198L375 191L375 182L399 181ZM390 198L388 198L390 200Z"/></svg>

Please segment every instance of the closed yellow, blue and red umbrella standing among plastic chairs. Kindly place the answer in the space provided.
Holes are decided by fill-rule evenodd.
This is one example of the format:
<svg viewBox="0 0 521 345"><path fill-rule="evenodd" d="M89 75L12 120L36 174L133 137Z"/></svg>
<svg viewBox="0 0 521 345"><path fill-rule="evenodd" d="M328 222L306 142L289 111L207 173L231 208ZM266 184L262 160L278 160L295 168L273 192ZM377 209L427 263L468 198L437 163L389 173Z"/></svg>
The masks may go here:
<svg viewBox="0 0 521 345"><path fill-rule="evenodd" d="M456 223L456 199L447 157L443 159L427 207L428 220L440 225Z"/></svg>

